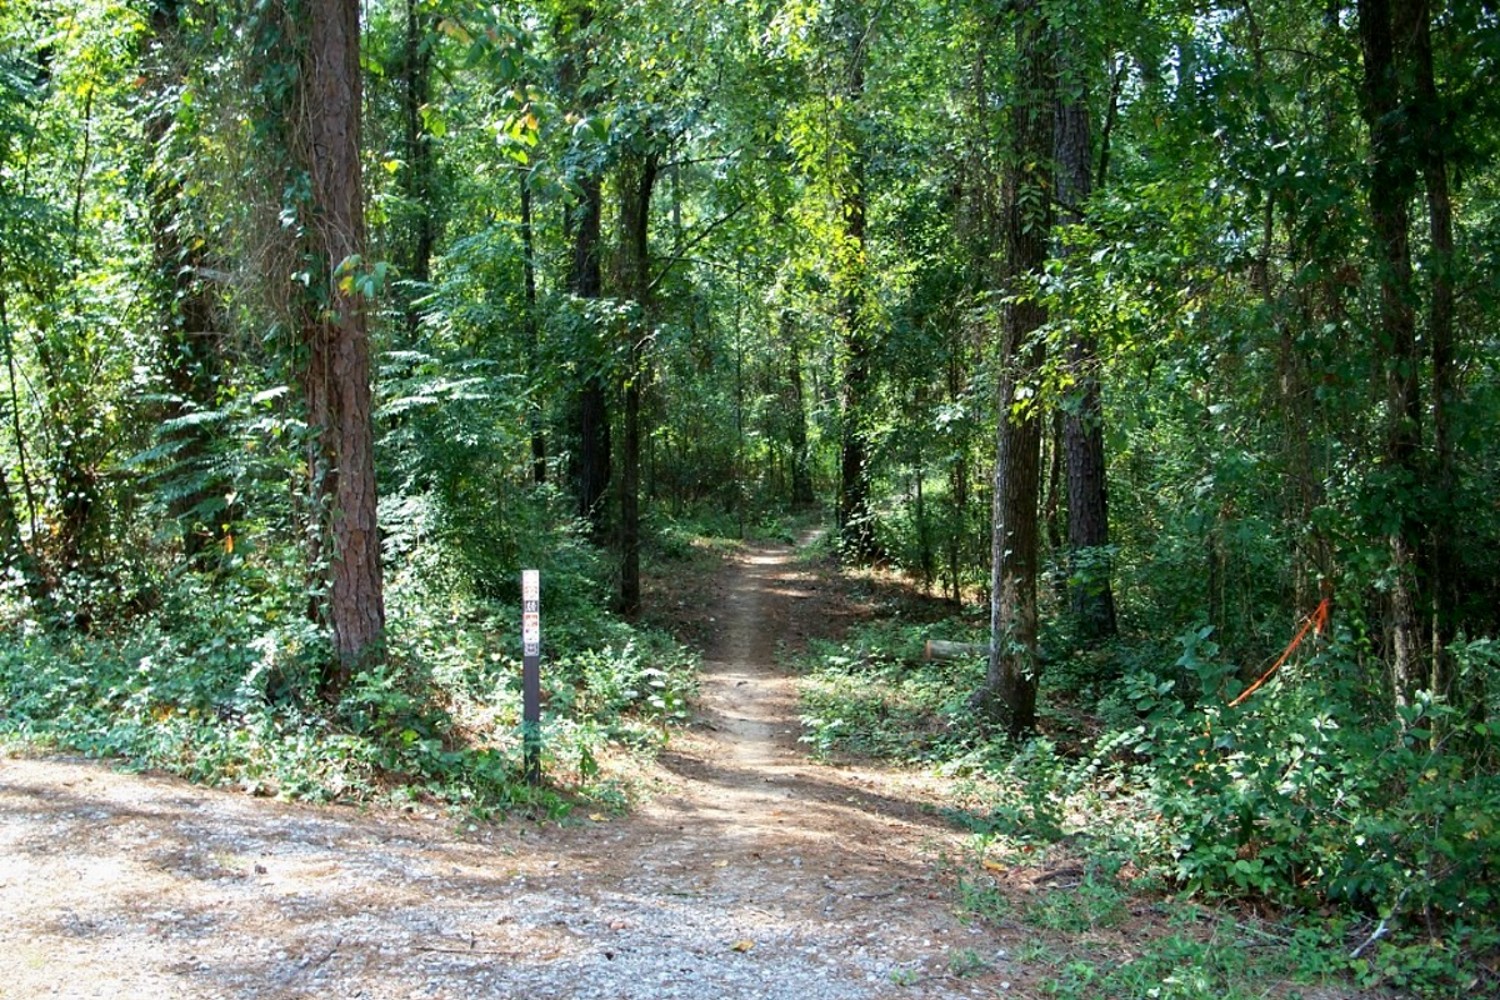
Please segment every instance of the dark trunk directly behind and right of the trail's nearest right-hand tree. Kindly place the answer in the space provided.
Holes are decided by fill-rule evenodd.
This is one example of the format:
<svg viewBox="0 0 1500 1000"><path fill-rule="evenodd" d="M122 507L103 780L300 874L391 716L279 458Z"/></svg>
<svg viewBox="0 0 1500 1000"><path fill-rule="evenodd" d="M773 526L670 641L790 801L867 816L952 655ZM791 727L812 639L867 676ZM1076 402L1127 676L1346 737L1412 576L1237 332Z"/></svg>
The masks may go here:
<svg viewBox="0 0 1500 1000"><path fill-rule="evenodd" d="M1058 100L1056 133L1058 201L1062 223L1082 225L1094 190L1088 88L1078 60L1070 57L1062 70L1065 93ZM1064 238L1060 252L1070 258L1077 247ZM1062 436L1068 468L1070 595L1078 633L1086 640L1108 639L1116 633L1098 354L1094 330L1076 322L1068 345L1068 373L1077 403L1064 414Z"/></svg>

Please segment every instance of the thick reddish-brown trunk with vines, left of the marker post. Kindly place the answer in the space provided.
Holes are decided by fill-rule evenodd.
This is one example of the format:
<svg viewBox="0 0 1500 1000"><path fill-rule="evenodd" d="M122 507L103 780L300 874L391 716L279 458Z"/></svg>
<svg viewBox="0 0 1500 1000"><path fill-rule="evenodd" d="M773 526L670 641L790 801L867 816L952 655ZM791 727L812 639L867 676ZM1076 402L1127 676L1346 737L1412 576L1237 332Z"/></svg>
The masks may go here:
<svg viewBox="0 0 1500 1000"><path fill-rule="evenodd" d="M309 0L298 75L294 154L310 181L303 219L308 258L324 285L304 303L304 393L312 430L312 565L322 576L321 613L334 663L324 697L338 700L376 654L386 628L375 523L375 429L364 309L351 280L364 252L360 183L360 7Z"/></svg>

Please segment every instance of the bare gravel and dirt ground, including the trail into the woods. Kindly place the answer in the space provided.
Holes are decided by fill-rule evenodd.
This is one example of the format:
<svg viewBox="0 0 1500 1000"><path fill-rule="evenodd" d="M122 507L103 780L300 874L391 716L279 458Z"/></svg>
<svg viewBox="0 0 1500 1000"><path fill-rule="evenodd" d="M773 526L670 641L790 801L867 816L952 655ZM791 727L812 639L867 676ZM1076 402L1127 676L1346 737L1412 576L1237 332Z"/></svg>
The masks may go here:
<svg viewBox="0 0 1500 1000"><path fill-rule="evenodd" d="M789 546L684 573L656 597L705 649L696 715L622 817L466 823L0 760L0 997L1040 996L1034 934L957 909L938 780L798 744L778 646L870 609ZM1131 930L1089 948L1126 960Z"/></svg>

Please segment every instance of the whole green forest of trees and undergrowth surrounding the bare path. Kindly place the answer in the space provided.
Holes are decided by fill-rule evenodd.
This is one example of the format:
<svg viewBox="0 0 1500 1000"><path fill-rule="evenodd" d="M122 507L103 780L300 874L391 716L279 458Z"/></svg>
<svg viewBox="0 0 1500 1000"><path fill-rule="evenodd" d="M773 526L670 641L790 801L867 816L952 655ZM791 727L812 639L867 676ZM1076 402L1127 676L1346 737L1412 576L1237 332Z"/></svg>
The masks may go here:
<svg viewBox="0 0 1500 1000"><path fill-rule="evenodd" d="M1494 0L8 0L0 346L4 745L614 802L824 525L814 753L1497 982Z"/></svg>

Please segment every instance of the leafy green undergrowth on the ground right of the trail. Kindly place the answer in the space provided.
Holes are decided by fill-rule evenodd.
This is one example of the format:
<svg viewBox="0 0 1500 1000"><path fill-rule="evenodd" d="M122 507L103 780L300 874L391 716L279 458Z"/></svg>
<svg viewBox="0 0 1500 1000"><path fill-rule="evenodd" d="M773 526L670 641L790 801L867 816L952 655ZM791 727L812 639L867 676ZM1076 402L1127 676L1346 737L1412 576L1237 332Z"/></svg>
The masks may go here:
<svg viewBox="0 0 1500 1000"><path fill-rule="evenodd" d="M978 916L1164 924L1132 934L1125 963L1038 946L1056 996L1266 996L1268 967L1272 982L1418 996L1500 988L1497 735L1434 700L1365 721L1382 712L1348 633L1300 651L1239 708L1240 670L1206 628L1059 655L1042 733L1022 747L972 714L982 657L924 663L930 636L984 642L978 619L891 618L814 645L804 739L956 780L954 819L975 844L958 883ZM1060 634L1050 646L1077 648ZM1456 652L1494 657L1488 643ZM1023 904L996 876L1072 862L1082 879Z"/></svg>

